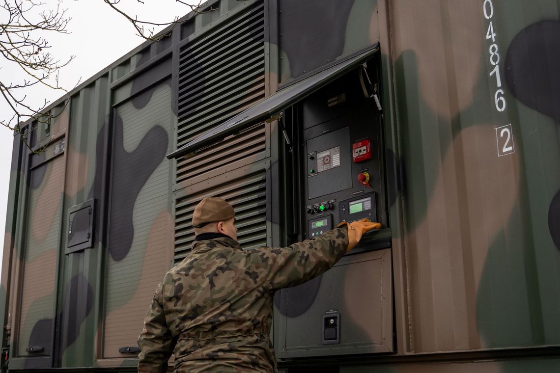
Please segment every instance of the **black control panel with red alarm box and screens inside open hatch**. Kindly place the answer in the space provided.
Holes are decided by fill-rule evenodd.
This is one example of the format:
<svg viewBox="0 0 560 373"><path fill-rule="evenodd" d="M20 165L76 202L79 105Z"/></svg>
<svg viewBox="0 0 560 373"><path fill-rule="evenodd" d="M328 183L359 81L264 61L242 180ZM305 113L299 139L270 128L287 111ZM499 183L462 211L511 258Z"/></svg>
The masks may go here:
<svg viewBox="0 0 560 373"><path fill-rule="evenodd" d="M325 106L332 97L346 100ZM360 87L340 81L303 105L305 237L315 238L341 221L368 218L386 228L383 149L377 107ZM325 107L328 109L325 110Z"/></svg>

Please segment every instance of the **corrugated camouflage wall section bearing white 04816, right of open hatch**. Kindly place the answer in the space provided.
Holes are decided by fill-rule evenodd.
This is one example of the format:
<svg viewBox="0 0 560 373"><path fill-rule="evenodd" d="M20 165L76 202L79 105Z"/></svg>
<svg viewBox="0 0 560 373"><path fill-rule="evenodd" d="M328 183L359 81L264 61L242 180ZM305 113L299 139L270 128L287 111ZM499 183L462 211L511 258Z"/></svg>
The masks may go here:
<svg viewBox="0 0 560 373"><path fill-rule="evenodd" d="M390 7L410 348L560 343L560 255L547 221L560 188L559 129L552 110L531 102L558 97L557 84L546 83L557 76L557 51L531 49L557 41L558 31L514 40L543 15L558 19L557 2ZM507 63L506 55L540 59L539 68ZM506 85L521 77L531 83L517 89L529 90L531 100Z"/></svg>

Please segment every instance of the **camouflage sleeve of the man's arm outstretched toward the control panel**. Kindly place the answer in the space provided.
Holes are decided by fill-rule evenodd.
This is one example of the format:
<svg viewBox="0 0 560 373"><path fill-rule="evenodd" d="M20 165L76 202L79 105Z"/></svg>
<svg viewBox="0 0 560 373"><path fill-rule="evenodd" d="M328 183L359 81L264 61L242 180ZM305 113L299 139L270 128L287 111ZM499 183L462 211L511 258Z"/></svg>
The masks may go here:
<svg viewBox="0 0 560 373"><path fill-rule="evenodd" d="M329 230L319 237L286 248L262 248L260 256L263 262L268 263L270 287L276 290L296 286L334 266L348 248L346 227Z"/></svg>

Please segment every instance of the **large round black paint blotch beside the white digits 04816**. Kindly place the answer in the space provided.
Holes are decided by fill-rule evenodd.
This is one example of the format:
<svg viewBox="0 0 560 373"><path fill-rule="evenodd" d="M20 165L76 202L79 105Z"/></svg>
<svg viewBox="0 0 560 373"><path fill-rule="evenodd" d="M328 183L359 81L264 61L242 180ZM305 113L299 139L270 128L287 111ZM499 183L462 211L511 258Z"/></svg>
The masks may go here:
<svg viewBox="0 0 560 373"><path fill-rule="evenodd" d="M560 122L560 21L533 23L511 41L506 83L525 105ZM532 123L532 122L530 122Z"/></svg>

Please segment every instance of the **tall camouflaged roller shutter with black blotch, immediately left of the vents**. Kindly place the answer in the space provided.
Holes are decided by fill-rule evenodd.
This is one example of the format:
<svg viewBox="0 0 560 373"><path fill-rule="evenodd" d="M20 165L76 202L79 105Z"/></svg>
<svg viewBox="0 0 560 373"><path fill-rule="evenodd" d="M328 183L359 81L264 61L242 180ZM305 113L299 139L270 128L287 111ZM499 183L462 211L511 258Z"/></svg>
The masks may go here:
<svg viewBox="0 0 560 373"><path fill-rule="evenodd" d="M139 101L149 101L142 108L136 108L133 101L116 108L115 147L124 148L124 153L115 152L111 192L109 226L109 253L106 314L103 357L132 357L119 353L120 347L136 346L136 339L142 330L142 322L156 285L169 269L171 263L172 220L169 214L169 162L164 158L169 150L158 155L160 163L146 172L144 181L138 174L130 175L125 170L143 164L143 146L157 147L155 138L148 138L158 126L165 128L167 138L172 123L171 89L161 84L152 92L142 93ZM123 131L118 126L122 120ZM147 140L146 140L147 139ZM146 149L144 149L146 150ZM120 154L120 155L119 155ZM150 153L144 153L144 157ZM153 155L156 157L156 155ZM140 188L134 196L132 190ZM136 198L135 198L136 197ZM125 199L134 199L125 204ZM132 211L132 226L125 223L130 219L123 206ZM132 232L129 232L132 228ZM131 240L123 239L130 237ZM124 251L124 252L123 252Z"/></svg>

